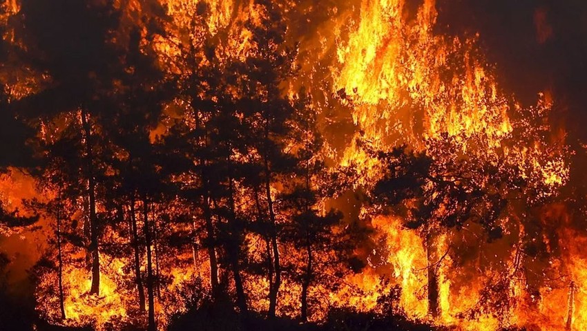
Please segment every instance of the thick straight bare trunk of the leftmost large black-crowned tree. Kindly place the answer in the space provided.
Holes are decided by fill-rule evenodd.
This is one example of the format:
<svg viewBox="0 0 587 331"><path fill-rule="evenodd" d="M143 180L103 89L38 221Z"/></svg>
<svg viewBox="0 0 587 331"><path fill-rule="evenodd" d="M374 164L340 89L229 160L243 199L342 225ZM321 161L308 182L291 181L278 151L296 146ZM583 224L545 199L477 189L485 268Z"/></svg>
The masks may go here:
<svg viewBox="0 0 587 331"><path fill-rule="evenodd" d="M86 171L88 177L88 197L90 200L90 252L92 254L92 286L90 287L90 294L100 293L100 260L98 248L98 222L96 215L96 196L95 196L95 180L93 170L93 150L91 140L91 130L84 108L81 108L81 124L84 126L84 133L86 138Z"/></svg>

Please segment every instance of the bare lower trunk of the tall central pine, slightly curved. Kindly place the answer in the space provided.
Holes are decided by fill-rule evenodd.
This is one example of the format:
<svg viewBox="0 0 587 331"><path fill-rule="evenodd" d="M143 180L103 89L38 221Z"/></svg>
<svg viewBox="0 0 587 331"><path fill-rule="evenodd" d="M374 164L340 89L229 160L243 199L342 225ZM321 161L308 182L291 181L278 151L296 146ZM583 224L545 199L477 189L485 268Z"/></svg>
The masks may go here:
<svg viewBox="0 0 587 331"><path fill-rule="evenodd" d="M275 280L273 286L269 288L269 311L267 316L275 317L277 309L277 299L279 294L279 287L281 286L281 265L279 261L279 246L277 243L277 229L276 229L276 217L275 210L273 209L273 198L271 198L271 171L269 170L269 163L267 158L264 161L265 166L265 194L267 195L267 209L269 211L270 221L270 232L271 236L271 248L273 249L273 269L275 272Z"/></svg>

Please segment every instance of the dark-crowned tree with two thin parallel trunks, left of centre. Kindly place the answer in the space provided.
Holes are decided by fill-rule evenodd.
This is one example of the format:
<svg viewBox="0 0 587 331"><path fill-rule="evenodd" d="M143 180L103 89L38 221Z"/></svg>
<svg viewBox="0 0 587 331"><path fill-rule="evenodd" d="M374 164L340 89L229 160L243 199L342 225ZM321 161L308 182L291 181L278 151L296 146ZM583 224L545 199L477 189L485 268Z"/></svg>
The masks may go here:
<svg viewBox="0 0 587 331"><path fill-rule="evenodd" d="M157 127L165 102L173 95L173 86L167 84L164 73L157 66L152 50L142 49L143 38L151 38L156 30L146 30L146 36L135 28L131 31L124 53L125 70L119 72L119 86L112 96L113 110L104 112L104 130L113 142L116 169L113 182L118 183L119 198L126 200L130 209L130 233L133 245L135 282L139 308L144 310L144 292L140 271L137 215L143 220L142 234L146 249L146 290L148 299L148 330L156 330L153 251L156 244L156 220L153 205L163 201L167 192L161 168L157 141L151 132ZM137 202L141 202L137 211ZM122 216L124 218L124 216Z"/></svg>

